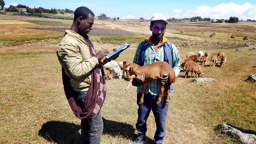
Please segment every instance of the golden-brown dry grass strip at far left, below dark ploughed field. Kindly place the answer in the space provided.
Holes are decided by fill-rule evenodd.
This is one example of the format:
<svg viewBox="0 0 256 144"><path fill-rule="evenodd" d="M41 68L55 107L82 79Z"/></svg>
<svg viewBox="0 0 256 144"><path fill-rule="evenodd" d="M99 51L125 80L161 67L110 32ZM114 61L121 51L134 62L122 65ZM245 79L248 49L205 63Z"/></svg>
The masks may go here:
<svg viewBox="0 0 256 144"><path fill-rule="evenodd" d="M63 37L61 32L41 31L17 27L0 27L0 40L4 41L31 41Z"/></svg>

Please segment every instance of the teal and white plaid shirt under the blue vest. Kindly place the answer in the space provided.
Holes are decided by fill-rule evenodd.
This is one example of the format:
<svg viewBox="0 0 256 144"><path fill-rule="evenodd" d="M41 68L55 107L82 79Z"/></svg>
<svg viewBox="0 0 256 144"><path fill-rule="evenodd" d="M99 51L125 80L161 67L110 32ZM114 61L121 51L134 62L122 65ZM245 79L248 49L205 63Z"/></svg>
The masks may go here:
<svg viewBox="0 0 256 144"><path fill-rule="evenodd" d="M168 39L163 37L163 41L158 49L155 51L154 44L151 42L151 36L149 37L147 41L147 49L145 51L144 55L144 63L143 65L149 65L156 61L164 61L164 43L167 42ZM141 44L141 43L140 43ZM137 51L135 53L133 63L136 63L140 65L140 48L141 45L138 45ZM172 68L175 72L175 76L178 76L180 72L180 55L179 52L174 44L172 44ZM141 92L142 85L139 85L137 87L137 92ZM157 80L154 80L148 84L148 88L146 89L145 93L151 94L151 95L159 95L159 83Z"/></svg>

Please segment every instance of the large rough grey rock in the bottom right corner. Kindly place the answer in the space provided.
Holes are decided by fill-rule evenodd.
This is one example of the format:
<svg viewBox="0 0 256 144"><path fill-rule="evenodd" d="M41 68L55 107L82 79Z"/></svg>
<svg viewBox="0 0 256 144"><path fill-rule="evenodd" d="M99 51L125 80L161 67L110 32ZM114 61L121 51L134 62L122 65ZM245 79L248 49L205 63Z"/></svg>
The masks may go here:
<svg viewBox="0 0 256 144"><path fill-rule="evenodd" d="M243 129L234 125L225 123L221 124L221 134L227 134L229 137L236 138L244 144L256 143L256 135L245 132L246 131L244 131ZM256 132L252 131L252 133Z"/></svg>

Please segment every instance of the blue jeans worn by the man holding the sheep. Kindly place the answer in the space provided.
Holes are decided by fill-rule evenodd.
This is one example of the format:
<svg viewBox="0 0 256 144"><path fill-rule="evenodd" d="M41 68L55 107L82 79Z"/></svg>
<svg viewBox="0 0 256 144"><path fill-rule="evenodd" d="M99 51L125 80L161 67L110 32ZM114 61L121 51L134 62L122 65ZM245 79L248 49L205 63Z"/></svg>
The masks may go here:
<svg viewBox="0 0 256 144"><path fill-rule="evenodd" d="M137 93L137 104L140 101L140 97L141 93ZM145 139L147 132L147 119L152 109L156 122L156 132L154 139L156 143L163 143L165 136L165 121L169 103L167 105L164 105L165 96L163 96L162 101L158 105L156 105L157 98L158 96L156 95L144 95L144 102L139 105L138 108L138 120L136 123L136 129L138 131L137 138L140 140Z"/></svg>

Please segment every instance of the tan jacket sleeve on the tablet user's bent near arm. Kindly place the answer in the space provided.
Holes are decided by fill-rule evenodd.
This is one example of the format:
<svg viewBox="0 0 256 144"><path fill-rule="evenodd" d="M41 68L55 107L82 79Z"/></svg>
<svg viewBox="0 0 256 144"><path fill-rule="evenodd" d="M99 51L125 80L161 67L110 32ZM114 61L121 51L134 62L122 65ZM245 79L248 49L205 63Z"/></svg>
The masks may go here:
<svg viewBox="0 0 256 144"><path fill-rule="evenodd" d="M61 60L66 64L70 74L77 79L87 75L97 64L99 64L96 57L83 61L79 52L79 47L71 43L59 45L57 51ZM90 53L88 55L90 56Z"/></svg>

